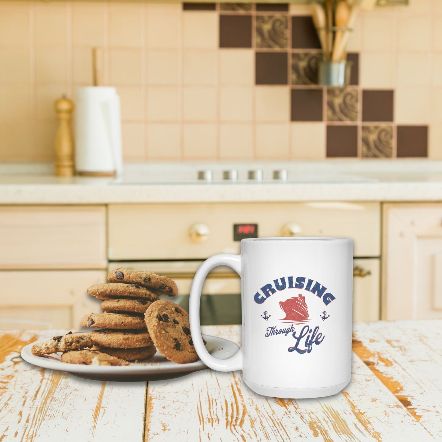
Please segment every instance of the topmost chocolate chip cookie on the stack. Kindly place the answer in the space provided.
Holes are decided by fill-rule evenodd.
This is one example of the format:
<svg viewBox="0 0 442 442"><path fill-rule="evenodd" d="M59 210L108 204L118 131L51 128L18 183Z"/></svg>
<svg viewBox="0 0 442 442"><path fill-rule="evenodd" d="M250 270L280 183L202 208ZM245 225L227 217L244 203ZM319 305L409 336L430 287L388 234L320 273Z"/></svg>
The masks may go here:
<svg viewBox="0 0 442 442"><path fill-rule="evenodd" d="M178 287L175 282L166 276L152 272L139 270L119 269L111 271L107 275L110 282L126 282L127 284L138 284L153 289L160 294L176 296Z"/></svg>

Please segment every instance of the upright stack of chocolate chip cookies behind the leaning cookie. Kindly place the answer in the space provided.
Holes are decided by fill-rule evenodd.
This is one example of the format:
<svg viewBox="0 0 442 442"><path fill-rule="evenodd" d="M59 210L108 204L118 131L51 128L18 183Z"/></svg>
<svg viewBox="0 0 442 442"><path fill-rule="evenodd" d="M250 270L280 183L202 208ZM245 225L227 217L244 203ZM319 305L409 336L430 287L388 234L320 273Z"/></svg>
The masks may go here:
<svg viewBox="0 0 442 442"><path fill-rule="evenodd" d="M160 294L176 296L170 278L156 273L119 268L107 275L109 283L95 284L88 293L101 299L104 313L84 316L82 327L100 328L91 332L93 351L125 361L151 358L156 353L144 320L145 311Z"/></svg>

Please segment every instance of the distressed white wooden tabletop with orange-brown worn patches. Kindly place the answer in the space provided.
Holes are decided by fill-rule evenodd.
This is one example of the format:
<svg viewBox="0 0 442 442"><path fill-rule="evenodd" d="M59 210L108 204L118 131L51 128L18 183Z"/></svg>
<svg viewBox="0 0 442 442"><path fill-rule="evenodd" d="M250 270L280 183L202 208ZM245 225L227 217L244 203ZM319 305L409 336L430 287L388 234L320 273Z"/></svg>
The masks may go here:
<svg viewBox="0 0 442 442"><path fill-rule="evenodd" d="M240 372L100 382L19 357L62 332L0 332L0 442L442 440L442 320L354 324L350 385L306 400L259 396ZM240 343L239 326L204 332Z"/></svg>

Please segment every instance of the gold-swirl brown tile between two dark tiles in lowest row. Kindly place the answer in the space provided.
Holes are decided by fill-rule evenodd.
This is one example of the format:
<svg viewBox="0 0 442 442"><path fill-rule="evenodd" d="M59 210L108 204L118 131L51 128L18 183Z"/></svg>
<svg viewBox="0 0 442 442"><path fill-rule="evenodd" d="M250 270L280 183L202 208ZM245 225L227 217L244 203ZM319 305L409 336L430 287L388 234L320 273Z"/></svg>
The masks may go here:
<svg viewBox="0 0 442 442"><path fill-rule="evenodd" d="M362 157L391 158L392 153L392 126L362 126Z"/></svg>

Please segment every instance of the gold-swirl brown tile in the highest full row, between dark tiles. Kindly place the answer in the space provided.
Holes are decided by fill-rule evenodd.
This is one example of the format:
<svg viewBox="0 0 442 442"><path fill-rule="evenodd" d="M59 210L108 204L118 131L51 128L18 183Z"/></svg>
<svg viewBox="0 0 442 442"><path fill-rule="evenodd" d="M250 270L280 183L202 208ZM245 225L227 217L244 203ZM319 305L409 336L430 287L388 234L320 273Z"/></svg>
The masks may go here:
<svg viewBox="0 0 442 442"><path fill-rule="evenodd" d="M289 43L287 24L286 15L257 15L256 47L286 48Z"/></svg>

